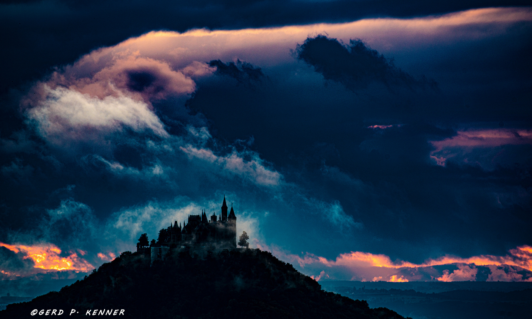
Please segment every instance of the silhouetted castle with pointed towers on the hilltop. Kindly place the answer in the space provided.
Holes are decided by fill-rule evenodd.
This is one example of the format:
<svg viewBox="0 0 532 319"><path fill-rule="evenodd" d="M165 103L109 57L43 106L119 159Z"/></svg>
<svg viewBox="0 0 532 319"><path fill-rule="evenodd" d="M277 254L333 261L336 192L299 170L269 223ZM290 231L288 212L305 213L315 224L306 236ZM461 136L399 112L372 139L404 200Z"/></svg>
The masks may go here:
<svg viewBox="0 0 532 319"><path fill-rule="evenodd" d="M232 208L227 214L226 197L223 197L221 214L212 214L207 219L205 211L201 215L189 215L188 222L183 226L174 221L173 226L163 228L159 233L159 240L147 243L140 236L137 252L145 257L164 259L164 255L171 249L235 249L236 248L236 216Z"/></svg>

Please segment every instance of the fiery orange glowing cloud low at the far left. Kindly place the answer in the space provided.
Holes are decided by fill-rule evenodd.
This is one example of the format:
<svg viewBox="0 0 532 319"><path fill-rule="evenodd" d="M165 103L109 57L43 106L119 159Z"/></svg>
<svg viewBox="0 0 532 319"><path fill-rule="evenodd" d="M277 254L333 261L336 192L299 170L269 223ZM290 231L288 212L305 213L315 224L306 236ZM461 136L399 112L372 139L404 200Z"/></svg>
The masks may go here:
<svg viewBox="0 0 532 319"><path fill-rule="evenodd" d="M93 269L94 266L88 263L87 260L80 258L78 253L71 252L69 256L61 257L61 249L54 244L44 243L36 244L34 246L25 246L20 244L6 244L0 242L0 246L5 247L15 253L21 253L22 259L31 259L34 261L35 268L45 270L73 270L87 272ZM80 255L85 255L85 251L78 250Z"/></svg>

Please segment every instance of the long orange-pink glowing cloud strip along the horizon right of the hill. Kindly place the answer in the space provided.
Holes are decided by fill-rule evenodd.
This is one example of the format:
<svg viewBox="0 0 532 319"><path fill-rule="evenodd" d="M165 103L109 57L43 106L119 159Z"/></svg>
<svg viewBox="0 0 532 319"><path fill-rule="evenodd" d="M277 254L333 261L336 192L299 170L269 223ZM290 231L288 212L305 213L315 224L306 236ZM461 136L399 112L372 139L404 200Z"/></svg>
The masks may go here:
<svg viewBox="0 0 532 319"><path fill-rule="evenodd" d="M488 281L532 281L532 276L519 274L520 270L526 269L532 272L532 246L519 246L510 249L506 256L479 255L469 258L461 258L445 255L436 259L427 259L424 263L414 264L408 261L392 261L383 254L370 252L352 251L342 253L335 260L305 253L303 256L287 253L278 247L266 246L257 243L262 250L268 250L279 259L299 265L302 271L309 271L319 275L313 275L314 280L340 279L408 282L412 280L438 280L438 281L468 281L476 280L478 269L476 266L486 266L491 274ZM433 266L456 265L458 269L438 272ZM419 269L432 275L419 275ZM428 279L427 279L428 276Z"/></svg>

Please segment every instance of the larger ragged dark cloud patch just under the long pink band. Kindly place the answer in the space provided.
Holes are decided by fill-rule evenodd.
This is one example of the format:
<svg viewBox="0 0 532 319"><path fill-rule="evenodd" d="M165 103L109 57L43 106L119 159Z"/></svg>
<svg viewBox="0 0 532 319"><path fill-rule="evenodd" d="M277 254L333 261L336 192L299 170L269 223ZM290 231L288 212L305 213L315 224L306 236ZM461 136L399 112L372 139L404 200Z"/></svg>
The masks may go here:
<svg viewBox="0 0 532 319"><path fill-rule="evenodd" d="M297 58L314 67L326 80L342 83L346 88L357 91L367 88L372 82L390 86L437 88L434 80L414 79L408 73L394 66L376 50L371 50L361 40L350 40L349 45L319 35L307 38L297 46Z"/></svg>

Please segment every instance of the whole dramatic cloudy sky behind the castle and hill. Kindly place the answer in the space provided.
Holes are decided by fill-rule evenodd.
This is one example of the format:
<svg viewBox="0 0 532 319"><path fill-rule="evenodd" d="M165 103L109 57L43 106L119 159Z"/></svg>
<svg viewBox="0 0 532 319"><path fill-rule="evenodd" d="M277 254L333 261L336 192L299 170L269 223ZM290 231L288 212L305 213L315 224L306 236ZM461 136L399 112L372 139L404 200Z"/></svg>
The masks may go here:
<svg viewBox="0 0 532 319"><path fill-rule="evenodd" d="M318 281L532 281L530 3L0 7L3 280L225 196Z"/></svg>

